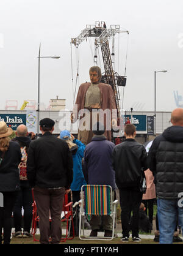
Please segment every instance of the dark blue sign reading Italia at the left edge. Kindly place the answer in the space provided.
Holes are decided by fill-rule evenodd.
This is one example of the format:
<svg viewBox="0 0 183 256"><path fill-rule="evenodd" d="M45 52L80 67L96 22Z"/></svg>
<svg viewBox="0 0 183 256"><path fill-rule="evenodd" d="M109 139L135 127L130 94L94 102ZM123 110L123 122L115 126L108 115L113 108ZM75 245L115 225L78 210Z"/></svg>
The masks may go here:
<svg viewBox="0 0 183 256"><path fill-rule="evenodd" d="M0 114L0 122L6 122L7 126L16 130L20 124L26 126L26 115L25 114Z"/></svg>

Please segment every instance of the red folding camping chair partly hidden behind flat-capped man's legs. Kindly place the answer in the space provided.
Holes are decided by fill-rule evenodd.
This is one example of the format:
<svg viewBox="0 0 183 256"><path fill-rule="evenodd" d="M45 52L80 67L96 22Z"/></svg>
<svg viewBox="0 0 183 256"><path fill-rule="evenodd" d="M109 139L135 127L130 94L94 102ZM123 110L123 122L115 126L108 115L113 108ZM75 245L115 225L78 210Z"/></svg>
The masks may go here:
<svg viewBox="0 0 183 256"><path fill-rule="evenodd" d="M38 239L35 238L35 234L37 232L37 223L39 221L39 216L37 213L37 206L35 203L35 198L34 198L34 190L32 189L32 230L31 234L33 235L34 241L39 241ZM49 222L51 222L51 216L49 216ZM74 238L74 222L73 222L73 202L68 201L68 194L64 195L63 198L63 208L62 208L62 214L61 214L61 222L66 222L66 235L63 237L60 242L65 242L67 239L71 240ZM71 225L73 228L73 236L70 237L70 229Z"/></svg>

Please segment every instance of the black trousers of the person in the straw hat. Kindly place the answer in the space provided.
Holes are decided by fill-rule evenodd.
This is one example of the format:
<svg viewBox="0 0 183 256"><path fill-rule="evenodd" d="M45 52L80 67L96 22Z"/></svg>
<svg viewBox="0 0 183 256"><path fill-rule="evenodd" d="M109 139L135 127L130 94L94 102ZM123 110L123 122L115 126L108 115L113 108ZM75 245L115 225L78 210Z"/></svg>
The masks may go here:
<svg viewBox="0 0 183 256"><path fill-rule="evenodd" d="M17 191L1 193L3 194L4 207L0 207L0 244L2 243L2 228L4 233L4 244L9 244L12 233L12 212L16 201Z"/></svg>

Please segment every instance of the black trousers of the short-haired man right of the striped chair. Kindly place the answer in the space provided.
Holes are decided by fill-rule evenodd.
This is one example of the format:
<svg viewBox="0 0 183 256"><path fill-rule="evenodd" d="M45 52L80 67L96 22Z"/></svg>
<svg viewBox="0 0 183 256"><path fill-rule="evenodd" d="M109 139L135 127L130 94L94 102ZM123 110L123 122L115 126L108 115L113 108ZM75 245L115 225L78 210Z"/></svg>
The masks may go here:
<svg viewBox="0 0 183 256"><path fill-rule="evenodd" d="M132 237L138 236L139 207L142 202L142 193L137 189L120 189L121 225L123 236L129 237L129 216L132 211Z"/></svg>

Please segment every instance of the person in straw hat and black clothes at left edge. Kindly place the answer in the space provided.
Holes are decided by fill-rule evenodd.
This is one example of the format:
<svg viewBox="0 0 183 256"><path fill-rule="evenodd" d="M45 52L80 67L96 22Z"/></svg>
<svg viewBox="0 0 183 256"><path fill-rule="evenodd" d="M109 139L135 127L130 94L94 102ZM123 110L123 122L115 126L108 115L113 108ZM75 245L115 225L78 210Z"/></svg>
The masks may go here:
<svg viewBox="0 0 183 256"><path fill-rule="evenodd" d="M0 244L2 228L4 244L10 243L12 211L20 189L18 165L21 161L21 151L18 143L10 141L9 135L12 132L4 121L0 122Z"/></svg>

